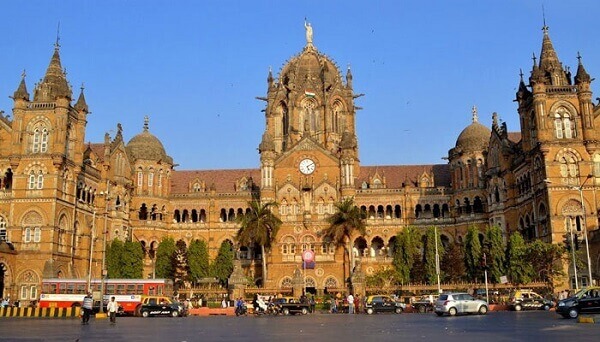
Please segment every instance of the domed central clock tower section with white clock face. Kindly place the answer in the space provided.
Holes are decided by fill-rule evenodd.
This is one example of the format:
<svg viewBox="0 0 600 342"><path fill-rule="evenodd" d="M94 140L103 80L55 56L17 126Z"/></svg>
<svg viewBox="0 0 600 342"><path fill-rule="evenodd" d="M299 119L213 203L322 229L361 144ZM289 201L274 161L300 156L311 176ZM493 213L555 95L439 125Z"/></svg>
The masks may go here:
<svg viewBox="0 0 600 342"><path fill-rule="evenodd" d="M301 258L306 249L327 243L320 241L319 232L326 227L325 218L333 213L334 204L355 194L359 160L354 99L359 95L353 92L350 68L344 79L312 40L283 66L277 78L269 70L267 84L267 97L260 98L267 103L266 128L259 146L261 200L276 201L283 221L274 245L286 238L295 244L293 255L277 255L290 253L291 247L274 248L268 261L283 266L286 260L293 261L288 271L277 268L293 274L295 267L302 267L295 256ZM321 255L316 253L319 273L336 274L337 268L341 274L341 252L339 258L325 258L330 259L328 265L320 262ZM269 274L266 282L281 276L284 274ZM336 278L339 283L341 276Z"/></svg>

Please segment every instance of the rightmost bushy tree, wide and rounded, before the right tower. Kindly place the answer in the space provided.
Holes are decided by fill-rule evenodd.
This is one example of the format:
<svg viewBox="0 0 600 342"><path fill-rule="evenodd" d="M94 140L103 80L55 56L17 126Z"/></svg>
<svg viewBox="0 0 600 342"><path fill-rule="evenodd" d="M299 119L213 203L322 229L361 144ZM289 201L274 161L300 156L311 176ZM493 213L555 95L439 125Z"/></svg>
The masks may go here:
<svg viewBox="0 0 600 342"><path fill-rule="evenodd" d="M553 284L556 278L564 276L561 261L565 252L564 247L542 240L534 240L527 244L526 260L535 271L534 280Z"/></svg>

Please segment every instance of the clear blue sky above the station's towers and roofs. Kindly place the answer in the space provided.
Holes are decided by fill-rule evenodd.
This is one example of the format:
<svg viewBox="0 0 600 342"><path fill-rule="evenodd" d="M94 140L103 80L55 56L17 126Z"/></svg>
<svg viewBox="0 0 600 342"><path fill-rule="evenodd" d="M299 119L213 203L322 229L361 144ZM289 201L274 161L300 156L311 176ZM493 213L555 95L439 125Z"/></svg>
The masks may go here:
<svg viewBox="0 0 600 342"><path fill-rule="evenodd" d="M471 122L492 112L518 127L519 69L542 42L542 5L559 58L577 52L600 75L597 0L5 1L0 5L0 110L27 71L43 77L60 22L61 59L75 95L85 83L86 141L123 125L164 144L177 169L258 168L267 73L305 43L351 65L362 165L445 163ZM597 84L592 83L592 89ZM594 97L600 96L598 93Z"/></svg>

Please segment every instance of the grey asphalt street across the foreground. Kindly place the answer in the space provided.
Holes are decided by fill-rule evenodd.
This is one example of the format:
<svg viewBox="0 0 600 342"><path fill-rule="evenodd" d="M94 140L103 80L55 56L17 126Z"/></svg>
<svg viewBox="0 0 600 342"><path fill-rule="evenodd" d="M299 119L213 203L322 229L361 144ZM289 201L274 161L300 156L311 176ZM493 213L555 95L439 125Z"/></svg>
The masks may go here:
<svg viewBox="0 0 600 342"><path fill-rule="evenodd" d="M117 324L77 319L0 319L0 341L595 341L600 324L554 312L315 314L245 317L118 317Z"/></svg>

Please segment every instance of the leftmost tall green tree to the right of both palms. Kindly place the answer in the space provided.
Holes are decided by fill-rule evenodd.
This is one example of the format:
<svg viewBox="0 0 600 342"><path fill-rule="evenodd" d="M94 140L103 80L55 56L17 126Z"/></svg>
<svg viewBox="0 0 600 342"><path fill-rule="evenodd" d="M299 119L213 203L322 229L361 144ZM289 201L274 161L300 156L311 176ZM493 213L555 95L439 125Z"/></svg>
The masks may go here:
<svg viewBox="0 0 600 342"><path fill-rule="evenodd" d="M420 257L421 237L416 229L406 227L396 235L396 246L394 248L394 260L392 264L398 273L398 281L401 283L411 282L411 269L413 268L415 256Z"/></svg>

